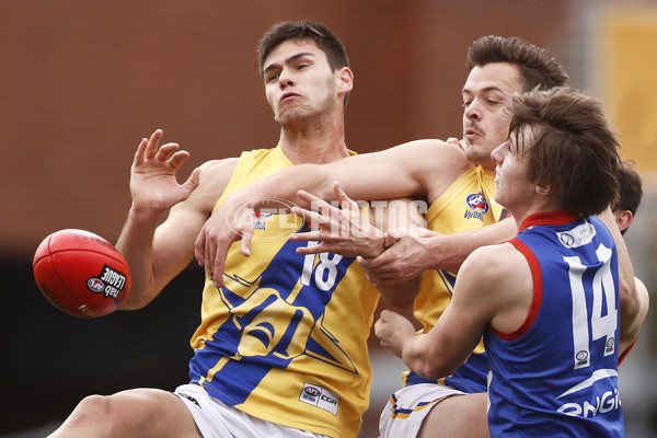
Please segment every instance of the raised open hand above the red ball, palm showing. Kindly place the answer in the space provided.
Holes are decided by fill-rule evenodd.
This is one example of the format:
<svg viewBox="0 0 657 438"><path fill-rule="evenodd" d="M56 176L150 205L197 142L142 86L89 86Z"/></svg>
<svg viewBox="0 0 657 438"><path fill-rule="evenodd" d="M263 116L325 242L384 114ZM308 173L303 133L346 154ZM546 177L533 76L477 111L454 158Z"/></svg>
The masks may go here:
<svg viewBox="0 0 657 438"><path fill-rule="evenodd" d="M176 173L189 153L177 143L159 146L162 130L143 138L135 153L130 174L130 194L135 210L164 211L181 203L198 187L200 170L195 169L183 184Z"/></svg>

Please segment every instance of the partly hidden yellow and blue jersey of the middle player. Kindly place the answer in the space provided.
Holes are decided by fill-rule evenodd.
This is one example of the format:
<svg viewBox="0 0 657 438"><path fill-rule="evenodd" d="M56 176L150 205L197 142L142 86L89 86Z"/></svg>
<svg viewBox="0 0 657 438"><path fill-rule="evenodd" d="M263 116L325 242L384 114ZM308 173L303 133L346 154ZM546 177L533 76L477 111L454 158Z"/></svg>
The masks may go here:
<svg viewBox="0 0 657 438"><path fill-rule="evenodd" d="M503 215L503 207L493 200L495 174L476 166L461 175L429 207L427 227L440 234L454 234L495 223ZM424 274L420 291L415 299L414 316L423 324L418 333L428 333L451 301L457 280L456 274L431 269ZM485 392L488 365L483 343L480 343L468 361L450 377L438 382L463 392ZM413 371L406 371L404 385L436 383Z"/></svg>

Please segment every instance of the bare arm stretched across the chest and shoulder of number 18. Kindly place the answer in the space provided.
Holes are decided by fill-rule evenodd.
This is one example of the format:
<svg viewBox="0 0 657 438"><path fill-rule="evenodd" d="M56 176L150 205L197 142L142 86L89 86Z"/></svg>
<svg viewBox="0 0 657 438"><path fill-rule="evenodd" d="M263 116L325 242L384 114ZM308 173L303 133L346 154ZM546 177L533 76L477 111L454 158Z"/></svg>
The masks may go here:
<svg viewBox="0 0 657 438"><path fill-rule="evenodd" d="M453 178L469 166L457 148L439 140L418 140L381 152L349 157L327 164L300 164L276 172L226 201L203 227L195 244L195 255L205 264L218 286L222 278L230 245L242 239L241 251L249 255L252 234L250 211L263 207L289 208L290 204L308 207L298 197L306 189L333 200L333 182L338 181L353 199L391 199L424 194L429 187ZM283 199L283 201L280 201Z"/></svg>

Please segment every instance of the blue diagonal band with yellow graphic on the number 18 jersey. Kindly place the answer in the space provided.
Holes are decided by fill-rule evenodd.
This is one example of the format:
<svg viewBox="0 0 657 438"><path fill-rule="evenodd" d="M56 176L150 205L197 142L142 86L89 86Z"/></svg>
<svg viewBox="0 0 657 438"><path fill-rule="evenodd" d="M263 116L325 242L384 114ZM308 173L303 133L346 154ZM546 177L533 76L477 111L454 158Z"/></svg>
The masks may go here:
<svg viewBox="0 0 657 438"><path fill-rule="evenodd" d="M315 265L309 284L298 286L306 256L296 250L306 244L287 241L261 277L253 281L228 276L241 293L228 286L222 288L221 298L231 315L212 338L206 341L205 347L195 351L189 364L191 380L199 382L207 378L208 370L226 361L210 381L203 383L212 396L230 404L243 403L272 368L287 368L302 354L357 372L337 339L321 326L326 304L355 257L323 255L319 265L325 263L328 268L322 267L316 274L319 265ZM326 275L332 281L330 287ZM322 288L326 290L322 290L318 281L324 281ZM289 302L291 292L299 287L301 290ZM278 333L280 331L283 333ZM299 334L304 337L300 338ZM257 342L243 343L245 336L255 337ZM239 347L242 345L255 345L257 350L243 350Z"/></svg>

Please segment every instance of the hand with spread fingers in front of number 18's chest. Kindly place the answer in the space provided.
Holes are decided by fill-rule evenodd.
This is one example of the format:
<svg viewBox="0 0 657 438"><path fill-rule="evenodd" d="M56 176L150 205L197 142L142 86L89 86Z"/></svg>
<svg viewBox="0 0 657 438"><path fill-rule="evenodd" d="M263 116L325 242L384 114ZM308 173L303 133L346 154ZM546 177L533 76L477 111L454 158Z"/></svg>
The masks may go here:
<svg viewBox="0 0 657 438"><path fill-rule="evenodd" d="M293 241L321 241L318 245L297 249L299 254L335 253L347 257L376 257L383 251L383 232L373 227L360 214L358 204L350 199L333 183L333 193L339 203L337 208L308 192L299 191L301 199L308 201L316 211L293 207L292 212L306 219L313 231L296 233L290 237Z"/></svg>

